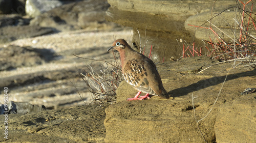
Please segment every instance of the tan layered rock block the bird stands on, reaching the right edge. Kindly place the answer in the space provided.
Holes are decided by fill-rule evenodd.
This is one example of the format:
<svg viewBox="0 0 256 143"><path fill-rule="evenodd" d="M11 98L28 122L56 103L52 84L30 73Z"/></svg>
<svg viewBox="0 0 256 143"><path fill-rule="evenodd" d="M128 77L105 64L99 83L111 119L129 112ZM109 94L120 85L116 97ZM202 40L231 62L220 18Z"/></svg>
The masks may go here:
<svg viewBox="0 0 256 143"><path fill-rule="evenodd" d="M197 74L212 64L217 65ZM231 69L217 103L212 108L232 64L218 64L217 60L198 57L157 65L163 86L174 100L153 96L149 100L125 101L135 96L137 91L123 81L117 90L117 103L105 110L105 141L253 141L256 93L241 95L241 92L247 87L256 86L252 82L256 80L255 68ZM203 120L197 125L195 117L197 121ZM236 136L240 132L241 135ZM227 137L229 135L230 138Z"/></svg>

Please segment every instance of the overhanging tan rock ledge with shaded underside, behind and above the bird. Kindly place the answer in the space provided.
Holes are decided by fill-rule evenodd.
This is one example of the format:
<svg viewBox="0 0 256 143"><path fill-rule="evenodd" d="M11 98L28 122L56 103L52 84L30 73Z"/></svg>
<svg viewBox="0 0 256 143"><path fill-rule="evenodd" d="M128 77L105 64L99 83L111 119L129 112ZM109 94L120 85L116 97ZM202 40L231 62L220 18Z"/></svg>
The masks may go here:
<svg viewBox="0 0 256 143"><path fill-rule="evenodd" d="M191 43L193 38L184 24L190 16L198 13L210 12L214 4L214 11L224 10L236 6L236 1L108 1L111 7L106 11L106 20L113 21L134 28L134 41L139 45L140 32L141 45L148 40L147 45L153 44L153 60L165 59L170 56L181 56L180 39ZM208 17L204 17L207 20ZM146 36L145 36L146 28ZM194 28L195 29L195 28ZM194 35L194 33L193 33ZM145 40L144 40L145 39ZM176 40L177 39L177 40ZM197 41L196 41L197 42ZM182 43L181 43L182 45ZM199 44L198 44L199 46ZM149 46L147 46L149 47Z"/></svg>

